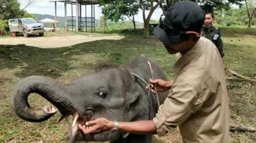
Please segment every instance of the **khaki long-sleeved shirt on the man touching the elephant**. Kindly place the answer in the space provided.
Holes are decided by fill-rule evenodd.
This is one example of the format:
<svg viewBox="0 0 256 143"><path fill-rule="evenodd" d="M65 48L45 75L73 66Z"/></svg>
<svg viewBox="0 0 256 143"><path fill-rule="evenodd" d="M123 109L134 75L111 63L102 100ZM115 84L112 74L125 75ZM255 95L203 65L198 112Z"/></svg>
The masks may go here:
<svg viewBox="0 0 256 143"><path fill-rule="evenodd" d="M221 61L204 37L178 59L171 93L153 119L159 135L179 126L184 142L228 142L229 99Z"/></svg>

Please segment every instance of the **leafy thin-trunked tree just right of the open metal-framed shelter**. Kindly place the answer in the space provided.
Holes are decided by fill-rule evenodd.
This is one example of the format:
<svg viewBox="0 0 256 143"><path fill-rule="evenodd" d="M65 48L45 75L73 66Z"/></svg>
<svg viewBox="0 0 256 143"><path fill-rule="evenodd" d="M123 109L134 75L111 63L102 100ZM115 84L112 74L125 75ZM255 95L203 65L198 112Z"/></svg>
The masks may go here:
<svg viewBox="0 0 256 143"><path fill-rule="evenodd" d="M133 22L133 29L136 30L135 15L139 11L139 3L134 0L123 0L123 1L102 1L104 4L104 15L111 21L124 20L128 17ZM107 4L107 5L106 5Z"/></svg>

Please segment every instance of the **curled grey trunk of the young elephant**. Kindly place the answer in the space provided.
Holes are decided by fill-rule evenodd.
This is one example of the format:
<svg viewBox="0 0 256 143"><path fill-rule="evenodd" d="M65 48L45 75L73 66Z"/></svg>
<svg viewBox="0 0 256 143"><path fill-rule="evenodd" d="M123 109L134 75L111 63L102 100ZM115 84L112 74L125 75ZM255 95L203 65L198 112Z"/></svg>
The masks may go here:
<svg viewBox="0 0 256 143"><path fill-rule="evenodd" d="M44 106L37 110L30 107L27 97L35 93L56 106L62 116L69 116L73 108L66 91L65 87L50 78L43 76L24 78L14 87L14 111L22 119L30 122L42 122L53 116L57 111L53 106Z"/></svg>

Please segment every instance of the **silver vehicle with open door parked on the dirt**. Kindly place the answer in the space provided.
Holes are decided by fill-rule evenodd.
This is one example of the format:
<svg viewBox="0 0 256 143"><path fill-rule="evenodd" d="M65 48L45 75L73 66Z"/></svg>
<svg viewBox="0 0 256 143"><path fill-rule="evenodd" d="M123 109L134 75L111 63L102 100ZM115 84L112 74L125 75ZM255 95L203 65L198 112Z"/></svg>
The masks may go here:
<svg viewBox="0 0 256 143"><path fill-rule="evenodd" d="M14 18L8 20L8 25L11 33L23 33L24 37L29 35L39 35L43 37L43 24L37 22L33 18Z"/></svg>

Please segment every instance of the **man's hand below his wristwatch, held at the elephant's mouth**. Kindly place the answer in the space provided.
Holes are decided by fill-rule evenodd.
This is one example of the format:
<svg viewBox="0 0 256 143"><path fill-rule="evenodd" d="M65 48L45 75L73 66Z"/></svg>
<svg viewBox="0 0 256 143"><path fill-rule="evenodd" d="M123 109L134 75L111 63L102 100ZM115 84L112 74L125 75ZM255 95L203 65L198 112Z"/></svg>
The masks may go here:
<svg viewBox="0 0 256 143"><path fill-rule="evenodd" d="M85 125L78 124L79 129L87 134L95 134L100 133L106 130L110 130L114 128L114 122L109 121L105 118L95 119L93 121L85 122Z"/></svg>

